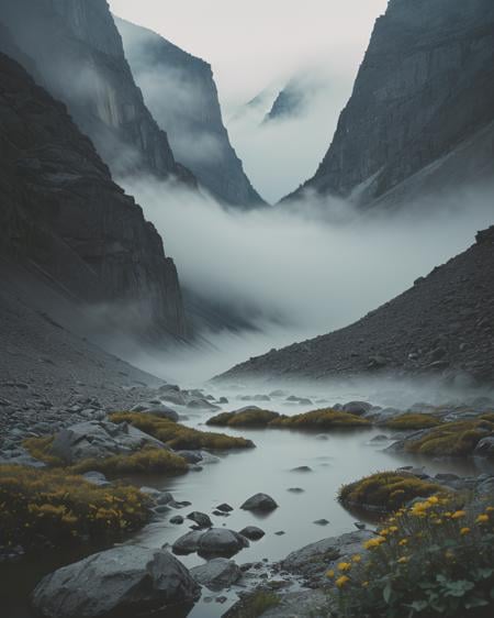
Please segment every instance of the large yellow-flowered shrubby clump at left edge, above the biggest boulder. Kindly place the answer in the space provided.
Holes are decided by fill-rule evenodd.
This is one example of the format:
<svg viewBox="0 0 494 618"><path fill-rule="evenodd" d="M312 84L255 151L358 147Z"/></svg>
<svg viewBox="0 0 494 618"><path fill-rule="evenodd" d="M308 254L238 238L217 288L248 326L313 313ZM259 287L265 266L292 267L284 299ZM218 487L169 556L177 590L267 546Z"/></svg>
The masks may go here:
<svg viewBox="0 0 494 618"><path fill-rule="evenodd" d="M117 539L147 522L150 504L135 487L99 487L58 468L0 465L0 544Z"/></svg>

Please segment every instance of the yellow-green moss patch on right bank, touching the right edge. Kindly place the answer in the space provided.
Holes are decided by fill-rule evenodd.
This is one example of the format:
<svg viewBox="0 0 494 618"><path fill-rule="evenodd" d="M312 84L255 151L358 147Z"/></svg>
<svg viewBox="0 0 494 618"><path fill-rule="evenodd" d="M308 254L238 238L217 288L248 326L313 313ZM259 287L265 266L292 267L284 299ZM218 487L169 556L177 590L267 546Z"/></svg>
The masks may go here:
<svg viewBox="0 0 494 618"><path fill-rule="evenodd" d="M467 456L482 438L493 434L494 415L483 415L476 420L445 422L420 439L405 442L405 451L433 456Z"/></svg>

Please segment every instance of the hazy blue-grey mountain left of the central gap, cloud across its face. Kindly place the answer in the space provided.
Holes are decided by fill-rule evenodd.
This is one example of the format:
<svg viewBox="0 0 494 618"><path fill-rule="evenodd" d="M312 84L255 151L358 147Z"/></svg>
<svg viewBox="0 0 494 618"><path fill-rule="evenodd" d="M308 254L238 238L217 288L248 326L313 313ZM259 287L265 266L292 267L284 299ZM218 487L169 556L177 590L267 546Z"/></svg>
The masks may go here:
<svg viewBox="0 0 494 618"><path fill-rule="evenodd" d="M229 143L211 66L150 30L121 19L115 23L146 104L177 158L221 201L265 203Z"/></svg>

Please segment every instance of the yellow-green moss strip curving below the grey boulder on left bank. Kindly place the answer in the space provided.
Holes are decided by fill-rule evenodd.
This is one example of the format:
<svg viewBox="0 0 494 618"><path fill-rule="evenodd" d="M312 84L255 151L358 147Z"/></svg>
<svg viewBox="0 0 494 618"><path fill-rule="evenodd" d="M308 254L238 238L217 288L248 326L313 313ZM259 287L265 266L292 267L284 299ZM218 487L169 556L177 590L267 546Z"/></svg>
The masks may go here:
<svg viewBox="0 0 494 618"><path fill-rule="evenodd" d="M50 454L53 435L29 438L23 445L29 453L52 467L65 467L67 473L83 474L89 471L101 472L108 476L120 474L165 473L181 474L187 472L187 461L166 449L146 446L135 453L111 455L110 457L91 457L71 466L66 466L58 457Z"/></svg>

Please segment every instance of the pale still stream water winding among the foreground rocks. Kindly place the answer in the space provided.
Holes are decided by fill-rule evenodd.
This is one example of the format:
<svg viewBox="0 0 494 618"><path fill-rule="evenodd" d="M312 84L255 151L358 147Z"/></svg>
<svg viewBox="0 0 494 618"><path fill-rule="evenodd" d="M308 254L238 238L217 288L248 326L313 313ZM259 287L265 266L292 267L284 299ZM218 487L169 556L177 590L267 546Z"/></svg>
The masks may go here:
<svg viewBox="0 0 494 618"><path fill-rule="evenodd" d="M235 396L231 400L233 402L224 406L224 409L239 407ZM285 402L266 406L284 413L307 410L307 407ZM210 429L204 427L204 422L213 412L191 413L187 410L184 413L188 416L183 421L186 424ZM238 564L262 559L276 561L307 543L356 530L356 516L346 511L336 500L338 488L343 484L373 472L425 463L384 452L383 449L390 442L372 442L373 437L383 433L375 428L325 434L279 429L214 428L214 431L249 438L255 442L256 449L220 455L217 463L204 465L199 472L189 472L181 476L134 478L133 482L139 485L169 490L176 500L189 500L192 505L162 516L162 519L148 525L130 542L150 548L172 544L189 531L189 525L192 522L186 520L183 525L173 526L169 523L169 518L178 514L187 516L192 510L199 510L210 515L215 527L225 526L238 531L251 525L265 530L266 536L261 540L251 541L249 548L234 556ZM384 433L391 437L389 431ZM475 472L472 462L426 463L429 473ZM308 466L311 471L293 471L299 466ZM293 487L303 492L289 492ZM267 516L240 510L239 506L258 492L272 496L279 508ZM221 503L228 503L234 508L229 517L212 515ZM327 519L329 523L324 527L314 523L318 519ZM29 595L40 578L58 566L100 549L86 548L77 553L46 550L37 556L0 565L0 615L4 618L33 618L29 607ZM179 560L189 567L203 562L195 554L180 556ZM167 611L160 613L159 617L178 618L188 615L190 618L217 618L235 602L238 589L242 588L234 587L231 592L215 594L204 588L202 598L189 614ZM223 598L223 603L220 603L216 600L218 597L226 597L226 600Z"/></svg>

